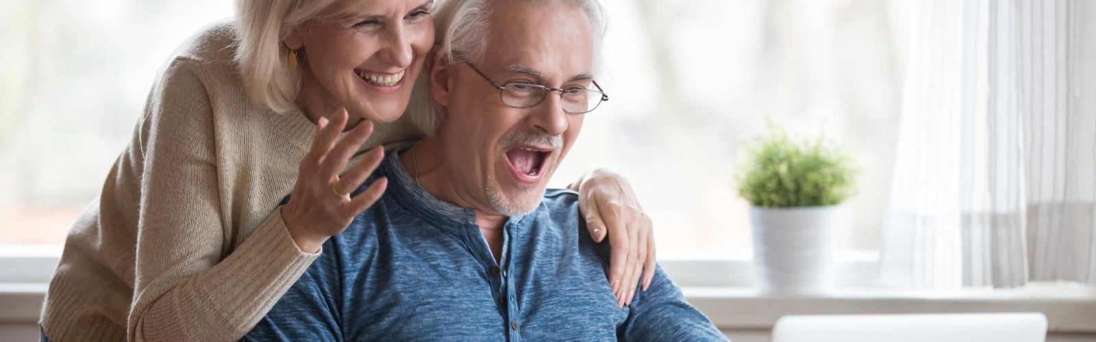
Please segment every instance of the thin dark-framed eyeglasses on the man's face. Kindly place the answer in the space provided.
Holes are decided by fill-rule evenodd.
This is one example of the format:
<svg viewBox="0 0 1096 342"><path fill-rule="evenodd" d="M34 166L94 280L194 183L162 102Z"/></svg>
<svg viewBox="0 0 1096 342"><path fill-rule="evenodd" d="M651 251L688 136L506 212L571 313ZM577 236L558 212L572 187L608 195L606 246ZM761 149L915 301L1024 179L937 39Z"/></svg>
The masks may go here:
<svg viewBox="0 0 1096 342"><path fill-rule="evenodd" d="M499 89L499 98L502 99L502 103L515 109L528 109L534 107L540 102L545 101L548 96L548 92L558 91L560 92L560 100L563 103L563 112L571 114L585 114L597 109L597 105L602 104L603 101L609 101L609 95L605 94L601 86L597 86L597 81L591 80L597 90L585 89L582 87L571 87L571 88L548 88L540 84L525 83L525 82L506 82L499 83L488 77L479 68L476 68L471 62L465 61L468 67L476 70L491 83L492 87Z"/></svg>

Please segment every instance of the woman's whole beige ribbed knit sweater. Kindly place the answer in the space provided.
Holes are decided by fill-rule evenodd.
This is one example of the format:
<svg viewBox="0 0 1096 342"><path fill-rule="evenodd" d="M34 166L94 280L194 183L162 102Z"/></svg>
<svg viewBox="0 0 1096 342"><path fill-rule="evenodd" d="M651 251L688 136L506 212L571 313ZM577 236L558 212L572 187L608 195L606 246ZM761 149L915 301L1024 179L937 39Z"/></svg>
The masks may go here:
<svg viewBox="0 0 1096 342"><path fill-rule="evenodd" d="M157 79L65 242L42 311L50 340L236 341L317 256L278 206L316 125L250 101L235 36L230 23L210 26ZM399 121L366 146L416 136Z"/></svg>

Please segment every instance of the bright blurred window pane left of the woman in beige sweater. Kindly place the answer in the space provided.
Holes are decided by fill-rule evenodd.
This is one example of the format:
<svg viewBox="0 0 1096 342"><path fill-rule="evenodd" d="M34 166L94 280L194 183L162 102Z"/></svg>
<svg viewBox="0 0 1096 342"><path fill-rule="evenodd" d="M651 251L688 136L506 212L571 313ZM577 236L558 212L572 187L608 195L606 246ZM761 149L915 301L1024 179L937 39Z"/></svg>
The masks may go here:
<svg viewBox="0 0 1096 342"><path fill-rule="evenodd" d="M129 141L157 69L231 14L224 0L4 2L0 249L64 243Z"/></svg>

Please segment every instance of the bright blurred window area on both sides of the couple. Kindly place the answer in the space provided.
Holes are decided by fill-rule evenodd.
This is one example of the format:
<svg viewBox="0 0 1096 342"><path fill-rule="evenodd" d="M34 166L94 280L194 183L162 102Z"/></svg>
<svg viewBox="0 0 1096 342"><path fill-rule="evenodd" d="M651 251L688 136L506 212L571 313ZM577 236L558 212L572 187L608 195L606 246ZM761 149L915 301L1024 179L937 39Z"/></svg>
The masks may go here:
<svg viewBox="0 0 1096 342"><path fill-rule="evenodd" d="M860 161L847 248L874 252L890 191L909 0L609 0L612 101L553 182L625 173L661 256L751 252L733 174L766 121ZM227 0L0 0L0 254L59 250L125 147L158 68ZM185 184L181 184L185 186Z"/></svg>

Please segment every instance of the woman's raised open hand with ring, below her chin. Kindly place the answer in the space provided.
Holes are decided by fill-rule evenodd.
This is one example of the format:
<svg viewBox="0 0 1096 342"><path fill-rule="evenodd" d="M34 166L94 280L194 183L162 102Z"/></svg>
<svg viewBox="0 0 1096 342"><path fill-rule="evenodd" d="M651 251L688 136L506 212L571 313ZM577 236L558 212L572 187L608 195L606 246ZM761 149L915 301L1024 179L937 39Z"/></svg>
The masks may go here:
<svg viewBox="0 0 1096 342"><path fill-rule="evenodd" d="M381 178L365 192L350 196L377 169L385 150L381 146L373 148L361 163L339 176L339 171L373 134L373 123L367 121L339 139L346 121L346 110L340 110L330 121L321 117L316 124L312 147L300 161L297 184L289 203L282 208L282 220L289 236L305 252L318 252L324 241L346 229L354 216L376 203L388 185L388 179Z"/></svg>

